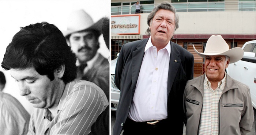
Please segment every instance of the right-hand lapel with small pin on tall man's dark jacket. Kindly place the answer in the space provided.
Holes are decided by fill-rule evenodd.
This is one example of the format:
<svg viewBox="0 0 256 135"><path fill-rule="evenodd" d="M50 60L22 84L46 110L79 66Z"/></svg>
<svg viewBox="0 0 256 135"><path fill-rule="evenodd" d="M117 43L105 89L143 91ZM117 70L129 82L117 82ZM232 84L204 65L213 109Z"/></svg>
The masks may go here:
<svg viewBox="0 0 256 135"><path fill-rule="evenodd" d="M171 91L173 82L176 78L177 71L180 68L181 59L179 58L179 56L180 56L180 53L179 53L176 45L173 42L171 42L171 55L170 55L168 81L167 81L168 96Z"/></svg>

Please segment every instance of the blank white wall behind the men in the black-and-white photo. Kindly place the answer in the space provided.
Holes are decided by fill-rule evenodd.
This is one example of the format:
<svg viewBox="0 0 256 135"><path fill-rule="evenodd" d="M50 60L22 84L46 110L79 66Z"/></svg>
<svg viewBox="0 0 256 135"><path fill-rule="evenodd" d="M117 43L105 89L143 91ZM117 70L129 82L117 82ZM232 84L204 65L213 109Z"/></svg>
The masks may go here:
<svg viewBox="0 0 256 135"><path fill-rule="evenodd" d="M48 22L56 25L60 30L66 30L67 17L75 9L84 9L91 15L94 22L110 15L110 0L0 0L0 63L3 61L5 49L12 37L29 24ZM99 10L100 9L100 10ZM102 35L100 36L100 49L104 57L110 55ZM0 67L0 70L3 69ZM10 71L3 71L7 80L4 92L10 93L18 99L29 113L31 104L19 95L19 88L10 76Z"/></svg>

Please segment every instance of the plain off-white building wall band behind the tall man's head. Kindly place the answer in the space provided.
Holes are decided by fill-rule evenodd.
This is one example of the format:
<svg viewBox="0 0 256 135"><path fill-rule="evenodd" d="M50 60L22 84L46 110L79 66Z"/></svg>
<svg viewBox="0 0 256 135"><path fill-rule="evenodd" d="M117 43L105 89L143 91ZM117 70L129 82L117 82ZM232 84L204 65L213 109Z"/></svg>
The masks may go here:
<svg viewBox="0 0 256 135"><path fill-rule="evenodd" d="M177 13L180 27L175 34L256 34L255 11ZM145 35L148 13L140 15L140 35Z"/></svg>

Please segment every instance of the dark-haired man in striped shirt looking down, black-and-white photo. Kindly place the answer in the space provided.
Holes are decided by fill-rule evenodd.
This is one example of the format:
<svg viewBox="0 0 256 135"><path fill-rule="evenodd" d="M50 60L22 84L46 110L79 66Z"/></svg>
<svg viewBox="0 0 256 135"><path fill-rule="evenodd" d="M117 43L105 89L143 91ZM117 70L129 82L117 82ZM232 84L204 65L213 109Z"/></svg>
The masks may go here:
<svg viewBox="0 0 256 135"><path fill-rule="evenodd" d="M14 35L1 66L35 107L28 134L89 134L108 106L97 85L74 81L75 63L75 54L53 24L31 24Z"/></svg>

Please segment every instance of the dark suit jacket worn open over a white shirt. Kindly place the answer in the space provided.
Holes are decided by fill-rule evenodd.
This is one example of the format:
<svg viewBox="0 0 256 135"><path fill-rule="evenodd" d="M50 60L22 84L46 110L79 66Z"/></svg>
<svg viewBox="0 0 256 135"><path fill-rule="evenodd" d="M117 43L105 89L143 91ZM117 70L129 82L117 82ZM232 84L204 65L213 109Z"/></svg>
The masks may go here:
<svg viewBox="0 0 256 135"><path fill-rule="evenodd" d="M122 46L118 56L115 84L120 89L113 135L119 135L125 126L144 57L148 39L137 40ZM193 78L194 57L187 50L171 42L171 55L167 81L167 114L170 131L183 133L183 92L188 80ZM132 129L131 129L132 130Z"/></svg>

